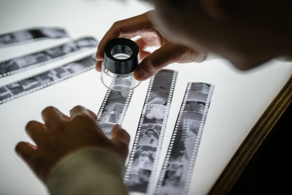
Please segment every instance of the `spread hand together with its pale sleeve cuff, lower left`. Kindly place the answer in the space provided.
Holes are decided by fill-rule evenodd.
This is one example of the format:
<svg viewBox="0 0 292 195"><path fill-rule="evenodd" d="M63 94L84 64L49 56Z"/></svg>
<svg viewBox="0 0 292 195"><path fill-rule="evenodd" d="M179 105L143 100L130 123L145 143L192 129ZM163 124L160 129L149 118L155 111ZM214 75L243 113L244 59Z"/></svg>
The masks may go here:
<svg viewBox="0 0 292 195"><path fill-rule="evenodd" d="M130 137L120 125L108 139L97 116L82 106L70 117L47 107L42 118L44 124L30 121L25 128L36 145L20 142L15 150L51 194L127 194L123 175Z"/></svg>

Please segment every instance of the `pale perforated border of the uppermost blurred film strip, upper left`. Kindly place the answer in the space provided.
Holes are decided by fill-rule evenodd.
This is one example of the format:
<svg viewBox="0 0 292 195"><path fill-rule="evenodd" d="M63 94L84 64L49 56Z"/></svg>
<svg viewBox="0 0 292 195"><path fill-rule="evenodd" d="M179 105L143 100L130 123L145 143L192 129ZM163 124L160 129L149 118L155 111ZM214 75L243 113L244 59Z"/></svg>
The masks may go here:
<svg viewBox="0 0 292 195"><path fill-rule="evenodd" d="M0 44L0 48L8 47L8 46L14 46L14 45L19 45L19 44L24 44L24 43L29 43L29 42L34 42L34 41L39 41L39 40L44 40L44 39L58 39L58 38L65 38L65 37L70 37L67 30L65 30L62 27L27 27L24 29L20 30L13 30L9 32L4 32L1 33L0 36L3 36L5 34L11 34L15 32L21 32L21 31L30 31L30 30L41 30L41 29L52 29L52 30L63 30L64 31L64 36L63 37L39 37L39 38L33 38L33 39L27 39L19 42L14 42L14 43L8 43L8 44Z"/></svg>

